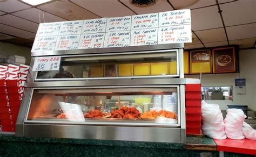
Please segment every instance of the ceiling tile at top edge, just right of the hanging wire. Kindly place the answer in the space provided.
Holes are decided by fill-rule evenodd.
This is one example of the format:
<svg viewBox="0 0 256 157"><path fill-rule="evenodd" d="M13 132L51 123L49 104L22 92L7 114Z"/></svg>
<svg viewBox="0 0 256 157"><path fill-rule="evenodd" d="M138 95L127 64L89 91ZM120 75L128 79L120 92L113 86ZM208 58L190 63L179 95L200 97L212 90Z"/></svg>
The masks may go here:
<svg viewBox="0 0 256 157"><path fill-rule="evenodd" d="M94 19L99 16L87 11L69 1L54 1L40 6L40 9L48 11L59 17L69 20Z"/></svg>

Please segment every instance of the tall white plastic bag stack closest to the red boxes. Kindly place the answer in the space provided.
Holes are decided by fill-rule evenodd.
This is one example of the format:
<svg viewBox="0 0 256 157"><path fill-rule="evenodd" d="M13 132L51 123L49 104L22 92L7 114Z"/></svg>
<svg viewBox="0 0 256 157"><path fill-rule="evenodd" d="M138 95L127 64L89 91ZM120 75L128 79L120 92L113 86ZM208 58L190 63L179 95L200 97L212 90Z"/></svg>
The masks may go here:
<svg viewBox="0 0 256 157"><path fill-rule="evenodd" d="M223 115L218 104L207 104L202 101L202 130L205 135L217 140L226 139L225 124L223 122Z"/></svg>

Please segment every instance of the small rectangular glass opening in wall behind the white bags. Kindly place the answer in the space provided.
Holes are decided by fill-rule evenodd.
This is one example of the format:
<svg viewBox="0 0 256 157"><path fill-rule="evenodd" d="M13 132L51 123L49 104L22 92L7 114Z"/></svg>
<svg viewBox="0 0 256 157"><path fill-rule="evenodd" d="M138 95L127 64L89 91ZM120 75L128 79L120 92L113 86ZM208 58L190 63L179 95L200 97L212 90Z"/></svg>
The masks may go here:
<svg viewBox="0 0 256 157"><path fill-rule="evenodd" d="M233 100L232 86L226 87L202 87L203 100Z"/></svg>

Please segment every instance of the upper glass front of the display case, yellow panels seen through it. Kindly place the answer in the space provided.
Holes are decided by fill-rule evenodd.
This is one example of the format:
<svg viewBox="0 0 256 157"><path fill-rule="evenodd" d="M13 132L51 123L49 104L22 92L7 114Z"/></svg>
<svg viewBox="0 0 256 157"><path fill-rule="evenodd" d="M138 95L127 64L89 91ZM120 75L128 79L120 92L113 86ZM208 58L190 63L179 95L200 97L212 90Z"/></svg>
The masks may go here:
<svg viewBox="0 0 256 157"><path fill-rule="evenodd" d="M63 57L58 71L41 71L37 79L177 75L177 52Z"/></svg>

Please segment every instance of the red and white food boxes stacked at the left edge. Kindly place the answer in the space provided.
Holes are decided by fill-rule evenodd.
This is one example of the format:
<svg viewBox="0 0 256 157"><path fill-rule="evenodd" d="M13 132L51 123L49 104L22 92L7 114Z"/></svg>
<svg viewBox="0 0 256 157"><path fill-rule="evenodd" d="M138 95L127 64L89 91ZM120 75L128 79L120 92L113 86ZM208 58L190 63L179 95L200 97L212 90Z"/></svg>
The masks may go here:
<svg viewBox="0 0 256 157"><path fill-rule="evenodd" d="M2 131L15 131L29 66L0 66L0 121Z"/></svg>

